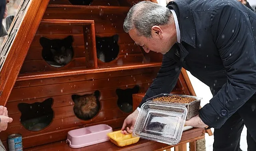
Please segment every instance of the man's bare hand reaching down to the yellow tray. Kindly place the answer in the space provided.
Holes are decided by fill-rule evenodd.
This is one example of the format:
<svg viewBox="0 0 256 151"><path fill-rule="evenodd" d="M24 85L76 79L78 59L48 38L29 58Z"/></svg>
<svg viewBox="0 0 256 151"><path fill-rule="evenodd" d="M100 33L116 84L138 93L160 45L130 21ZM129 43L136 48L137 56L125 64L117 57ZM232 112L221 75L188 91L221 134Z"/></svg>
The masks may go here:
<svg viewBox="0 0 256 151"><path fill-rule="evenodd" d="M125 121L123 122L123 127L121 129L122 134L131 134L133 132L133 128L138 115L139 111L136 109L133 113L127 116L127 118L125 118Z"/></svg>

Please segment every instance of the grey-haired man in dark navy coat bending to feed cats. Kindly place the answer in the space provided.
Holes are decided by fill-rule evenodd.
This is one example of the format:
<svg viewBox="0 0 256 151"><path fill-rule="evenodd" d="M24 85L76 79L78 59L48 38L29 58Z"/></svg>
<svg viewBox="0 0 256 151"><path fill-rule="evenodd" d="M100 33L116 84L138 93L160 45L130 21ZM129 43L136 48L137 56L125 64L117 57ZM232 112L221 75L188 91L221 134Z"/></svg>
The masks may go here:
<svg viewBox="0 0 256 151"><path fill-rule="evenodd" d="M166 7L148 1L133 6L125 32L145 52L163 54L162 66L138 110L124 121L131 133L145 100L170 93L181 68L208 85L210 103L186 125L214 130L214 151L238 151L247 128L256 150L256 14L236 0L177 0Z"/></svg>

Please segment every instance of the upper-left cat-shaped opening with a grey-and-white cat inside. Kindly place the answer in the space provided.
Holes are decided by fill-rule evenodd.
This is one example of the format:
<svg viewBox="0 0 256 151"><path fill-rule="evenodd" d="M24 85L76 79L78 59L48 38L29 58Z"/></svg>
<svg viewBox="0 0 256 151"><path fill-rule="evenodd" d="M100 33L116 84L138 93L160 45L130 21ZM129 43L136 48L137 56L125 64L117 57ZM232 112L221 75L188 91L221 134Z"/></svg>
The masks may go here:
<svg viewBox="0 0 256 151"><path fill-rule="evenodd" d="M71 62L73 58L73 37L68 36L64 39L40 38L43 47L42 57L48 64L54 67L62 67Z"/></svg>

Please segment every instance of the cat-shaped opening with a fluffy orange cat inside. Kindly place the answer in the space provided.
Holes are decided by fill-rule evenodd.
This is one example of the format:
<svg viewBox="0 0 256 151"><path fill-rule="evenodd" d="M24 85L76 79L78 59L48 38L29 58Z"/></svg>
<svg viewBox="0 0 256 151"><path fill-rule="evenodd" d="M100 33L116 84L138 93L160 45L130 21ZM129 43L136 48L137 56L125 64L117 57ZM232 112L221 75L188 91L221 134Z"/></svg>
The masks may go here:
<svg viewBox="0 0 256 151"><path fill-rule="evenodd" d="M90 120L99 112L99 91L95 91L93 94L72 95L71 97L75 103L74 113L81 120Z"/></svg>

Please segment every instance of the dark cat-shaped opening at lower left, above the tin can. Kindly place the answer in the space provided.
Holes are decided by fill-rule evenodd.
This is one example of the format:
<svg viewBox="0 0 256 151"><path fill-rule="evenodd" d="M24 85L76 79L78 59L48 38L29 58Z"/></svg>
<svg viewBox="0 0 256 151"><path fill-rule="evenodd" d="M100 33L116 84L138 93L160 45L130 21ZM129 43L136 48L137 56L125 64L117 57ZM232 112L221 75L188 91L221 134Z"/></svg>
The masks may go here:
<svg viewBox="0 0 256 151"><path fill-rule="evenodd" d="M42 103L19 103L20 122L24 128L30 131L40 131L48 126L53 119L52 102L53 99L49 98Z"/></svg>

